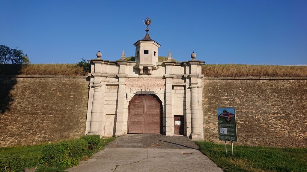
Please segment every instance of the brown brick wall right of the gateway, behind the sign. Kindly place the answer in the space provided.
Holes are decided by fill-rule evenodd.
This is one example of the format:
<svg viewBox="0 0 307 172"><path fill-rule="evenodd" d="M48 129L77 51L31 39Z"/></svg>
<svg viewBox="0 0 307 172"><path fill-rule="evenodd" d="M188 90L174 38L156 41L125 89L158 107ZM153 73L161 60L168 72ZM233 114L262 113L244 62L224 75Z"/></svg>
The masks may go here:
<svg viewBox="0 0 307 172"><path fill-rule="evenodd" d="M217 107L235 107L235 144L307 146L306 78L206 77L202 81L205 140L222 143Z"/></svg>

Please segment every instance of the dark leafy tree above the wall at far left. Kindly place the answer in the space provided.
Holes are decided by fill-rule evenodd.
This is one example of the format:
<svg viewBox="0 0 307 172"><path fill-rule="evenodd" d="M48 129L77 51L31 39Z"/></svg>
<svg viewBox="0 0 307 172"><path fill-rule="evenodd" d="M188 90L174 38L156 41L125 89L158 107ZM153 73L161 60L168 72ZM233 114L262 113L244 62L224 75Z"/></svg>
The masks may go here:
<svg viewBox="0 0 307 172"><path fill-rule="evenodd" d="M5 45L0 45L0 64L29 64L31 63L27 54L23 54L23 50L9 48Z"/></svg>

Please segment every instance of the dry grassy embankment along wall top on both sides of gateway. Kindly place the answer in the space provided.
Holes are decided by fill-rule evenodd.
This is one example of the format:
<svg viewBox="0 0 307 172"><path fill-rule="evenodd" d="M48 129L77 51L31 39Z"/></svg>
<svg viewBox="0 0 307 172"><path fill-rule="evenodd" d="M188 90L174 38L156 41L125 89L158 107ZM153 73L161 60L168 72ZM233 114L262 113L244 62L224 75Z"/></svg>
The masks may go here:
<svg viewBox="0 0 307 172"><path fill-rule="evenodd" d="M126 60L134 61L134 57ZM166 61L159 56L158 61ZM174 60L174 59L172 59ZM174 60L176 61L176 60ZM80 64L80 63L79 63ZM31 64L21 65L0 64L0 75L66 75L87 76L89 64ZM280 65L203 65L202 73L206 77L307 77L307 66Z"/></svg>

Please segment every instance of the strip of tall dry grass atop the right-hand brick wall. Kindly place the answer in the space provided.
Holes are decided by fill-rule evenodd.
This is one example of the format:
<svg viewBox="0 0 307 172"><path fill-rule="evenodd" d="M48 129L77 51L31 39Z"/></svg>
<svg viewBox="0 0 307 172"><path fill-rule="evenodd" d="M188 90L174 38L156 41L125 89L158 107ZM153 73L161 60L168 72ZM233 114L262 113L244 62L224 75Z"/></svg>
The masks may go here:
<svg viewBox="0 0 307 172"><path fill-rule="evenodd" d="M205 77L307 77L307 66L203 65Z"/></svg>

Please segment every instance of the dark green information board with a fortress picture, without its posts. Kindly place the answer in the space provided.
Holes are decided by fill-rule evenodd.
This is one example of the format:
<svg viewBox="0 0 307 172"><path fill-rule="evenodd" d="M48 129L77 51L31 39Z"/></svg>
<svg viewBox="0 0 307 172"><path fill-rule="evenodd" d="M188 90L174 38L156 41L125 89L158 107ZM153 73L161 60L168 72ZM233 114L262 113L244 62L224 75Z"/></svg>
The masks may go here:
<svg viewBox="0 0 307 172"><path fill-rule="evenodd" d="M219 139L237 141L237 124L234 107L217 108Z"/></svg>

